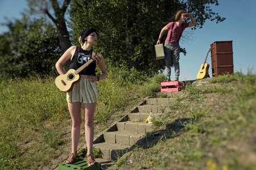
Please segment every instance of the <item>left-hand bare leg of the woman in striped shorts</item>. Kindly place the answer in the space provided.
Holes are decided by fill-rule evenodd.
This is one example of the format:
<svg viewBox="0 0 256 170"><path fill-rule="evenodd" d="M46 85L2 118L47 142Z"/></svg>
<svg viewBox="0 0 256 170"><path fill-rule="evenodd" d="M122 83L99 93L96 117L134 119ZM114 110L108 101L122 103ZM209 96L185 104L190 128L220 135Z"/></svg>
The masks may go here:
<svg viewBox="0 0 256 170"><path fill-rule="evenodd" d="M80 138L80 125L81 125L81 103L68 102L68 110L72 119L71 141L72 153L75 154Z"/></svg>

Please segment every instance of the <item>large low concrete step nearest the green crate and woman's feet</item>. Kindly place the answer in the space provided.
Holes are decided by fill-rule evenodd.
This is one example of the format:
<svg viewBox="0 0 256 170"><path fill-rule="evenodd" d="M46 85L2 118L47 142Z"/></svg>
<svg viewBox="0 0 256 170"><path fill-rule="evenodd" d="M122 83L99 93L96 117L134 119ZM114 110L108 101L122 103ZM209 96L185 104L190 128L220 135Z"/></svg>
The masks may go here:
<svg viewBox="0 0 256 170"><path fill-rule="evenodd" d="M110 159L110 160L117 160L117 158L121 157L125 154L130 146L120 146L113 143L96 143L93 147L99 148L101 150L102 159Z"/></svg>

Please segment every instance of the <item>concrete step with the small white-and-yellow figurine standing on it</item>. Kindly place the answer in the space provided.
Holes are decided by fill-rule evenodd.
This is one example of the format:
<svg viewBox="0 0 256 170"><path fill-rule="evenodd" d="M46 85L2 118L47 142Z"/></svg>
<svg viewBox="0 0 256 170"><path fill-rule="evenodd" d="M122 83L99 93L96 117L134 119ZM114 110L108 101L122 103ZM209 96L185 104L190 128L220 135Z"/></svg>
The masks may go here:
<svg viewBox="0 0 256 170"><path fill-rule="evenodd" d="M154 131L155 126L144 122L118 122L118 131L129 131L135 134L144 134L146 132Z"/></svg>

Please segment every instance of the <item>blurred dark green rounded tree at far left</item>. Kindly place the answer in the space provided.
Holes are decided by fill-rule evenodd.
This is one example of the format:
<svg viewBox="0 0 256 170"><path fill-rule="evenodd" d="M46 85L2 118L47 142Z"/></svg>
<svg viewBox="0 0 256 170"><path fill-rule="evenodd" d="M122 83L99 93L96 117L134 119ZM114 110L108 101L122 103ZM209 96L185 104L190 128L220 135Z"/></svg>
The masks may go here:
<svg viewBox="0 0 256 170"><path fill-rule="evenodd" d="M7 27L9 32L0 36L2 79L55 74L55 62L61 51L52 24L23 16L7 23Z"/></svg>

